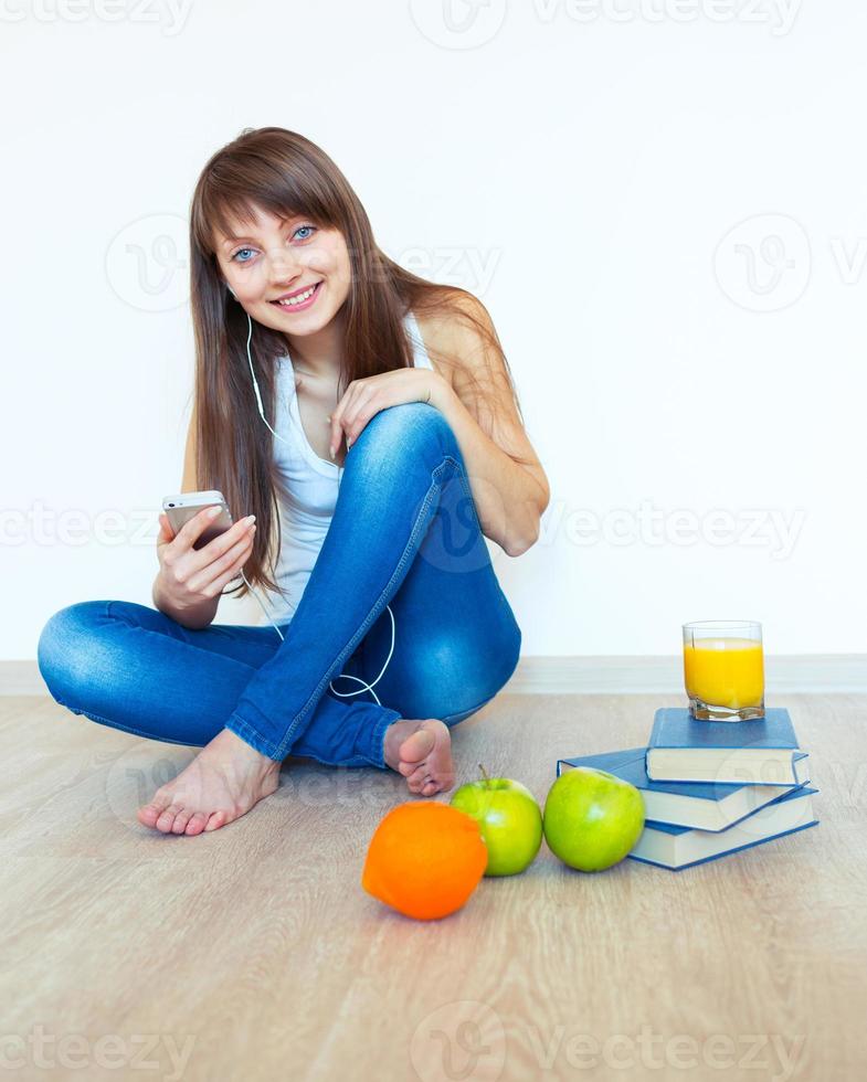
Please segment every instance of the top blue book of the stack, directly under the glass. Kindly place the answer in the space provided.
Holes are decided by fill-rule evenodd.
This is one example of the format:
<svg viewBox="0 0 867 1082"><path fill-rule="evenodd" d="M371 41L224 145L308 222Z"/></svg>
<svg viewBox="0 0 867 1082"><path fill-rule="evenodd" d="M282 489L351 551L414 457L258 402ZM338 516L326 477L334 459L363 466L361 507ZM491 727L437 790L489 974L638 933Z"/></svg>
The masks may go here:
<svg viewBox="0 0 867 1082"><path fill-rule="evenodd" d="M797 785L797 740L787 710L754 721L696 721L685 708L657 710L647 741L654 782Z"/></svg>

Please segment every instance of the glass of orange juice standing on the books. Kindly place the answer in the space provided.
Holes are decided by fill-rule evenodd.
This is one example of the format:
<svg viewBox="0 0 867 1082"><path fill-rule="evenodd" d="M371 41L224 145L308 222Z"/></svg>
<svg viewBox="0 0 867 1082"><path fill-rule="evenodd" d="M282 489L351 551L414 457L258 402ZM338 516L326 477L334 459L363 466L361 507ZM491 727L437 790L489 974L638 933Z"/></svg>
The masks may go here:
<svg viewBox="0 0 867 1082"><path fill-rule="evenodd" d="M684 624L684 681L700 721L764 718L762 625L754 620Z"/></svg>

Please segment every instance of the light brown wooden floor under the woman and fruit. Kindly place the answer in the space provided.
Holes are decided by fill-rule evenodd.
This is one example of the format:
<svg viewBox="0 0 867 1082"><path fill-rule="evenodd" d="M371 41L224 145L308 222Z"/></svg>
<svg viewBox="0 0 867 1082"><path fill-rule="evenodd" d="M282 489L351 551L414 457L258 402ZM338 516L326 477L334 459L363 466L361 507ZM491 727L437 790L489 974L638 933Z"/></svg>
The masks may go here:
<svg viewBox="0 0 867 1082"><path fill-rule="evenodd" d="M458 782L643 744L659 696L498 697ZM683 872L596 876L544 844L443 921L360 873L391 773L287 761L198 838L136 807L195 754L0 699L3 1076L214 1080L865 1076L867 697L792 696L821 825Z"/></svg>

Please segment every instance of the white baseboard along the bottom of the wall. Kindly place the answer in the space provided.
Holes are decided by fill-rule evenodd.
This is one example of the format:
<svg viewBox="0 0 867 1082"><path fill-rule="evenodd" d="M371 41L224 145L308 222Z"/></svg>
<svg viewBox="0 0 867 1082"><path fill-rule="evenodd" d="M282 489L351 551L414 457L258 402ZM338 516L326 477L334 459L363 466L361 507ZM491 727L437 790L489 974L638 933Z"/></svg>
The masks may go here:
<svg viewBox="0 0 867 1082"><path fill-rule="evenodd" d="M780 693L867 693L867 655L765 658L768 689ZM522 657L503 689L510 694L683 694L679 657ZM35 661L0 661L0 696L43 696Z"/></svg>

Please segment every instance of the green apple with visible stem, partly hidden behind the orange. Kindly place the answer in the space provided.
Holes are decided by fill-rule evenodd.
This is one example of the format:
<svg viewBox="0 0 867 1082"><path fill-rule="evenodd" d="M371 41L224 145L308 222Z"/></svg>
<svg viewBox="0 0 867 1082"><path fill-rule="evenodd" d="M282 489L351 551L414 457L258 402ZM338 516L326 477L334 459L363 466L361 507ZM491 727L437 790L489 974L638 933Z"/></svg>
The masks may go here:
<svg viewBox="0 0 867 1082"><path fill-rule="evenodd" d="M515 876L528 868L542 844L542 813L526 785L508 777L468 782L451 804L478 823L488 847L486 876Z"/></svg>

